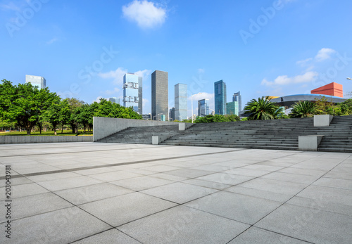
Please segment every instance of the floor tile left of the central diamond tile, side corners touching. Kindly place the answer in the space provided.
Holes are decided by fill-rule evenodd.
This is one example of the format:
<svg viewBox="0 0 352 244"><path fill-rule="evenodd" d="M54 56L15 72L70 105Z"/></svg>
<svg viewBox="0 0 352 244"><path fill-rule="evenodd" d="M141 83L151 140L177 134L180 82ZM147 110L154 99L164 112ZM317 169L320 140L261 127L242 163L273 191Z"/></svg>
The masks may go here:
<svg viewBox="0 0 352 244"><path fill-rule="evenodd" d="M117 195L124 195L134 191L115 186L110 183L94 184L89 186L82 186L77 188L70 188L55 193L65 198L70 203L80 205L83 203L90 203L96 200L111 198Z"/></svg>

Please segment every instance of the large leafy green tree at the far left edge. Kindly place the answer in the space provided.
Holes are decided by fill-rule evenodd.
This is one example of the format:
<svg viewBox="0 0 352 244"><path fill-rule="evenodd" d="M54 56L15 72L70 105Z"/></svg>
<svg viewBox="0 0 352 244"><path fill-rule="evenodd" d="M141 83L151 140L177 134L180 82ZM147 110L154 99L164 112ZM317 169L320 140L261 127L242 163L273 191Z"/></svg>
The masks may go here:
<svg viewBox="0 0 352 244"><path fill-rule="evenodd" d="M15 86L3 79L0 84L0 117L7 122L15 122L30 135L54 96L56 94L51 93L47 87L38 89L30 83Z"/></svg>

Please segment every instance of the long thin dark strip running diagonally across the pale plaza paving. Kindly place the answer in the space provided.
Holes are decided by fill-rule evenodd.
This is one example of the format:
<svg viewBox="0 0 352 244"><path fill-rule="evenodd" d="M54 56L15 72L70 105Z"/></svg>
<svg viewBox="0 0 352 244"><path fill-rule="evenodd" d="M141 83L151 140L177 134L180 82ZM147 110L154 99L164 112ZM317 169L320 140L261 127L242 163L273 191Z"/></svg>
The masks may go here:
<svg viewBox="0 0 352 244"><path fill-rule="evenodd" d="M243 150L247 150L247 149L243 149ZM122 162L122 163L116 163L116 164L112 164L112 165L96 165L96 166L80 167L80 168L73 168L73 169L59 169L59 170L54 170L54 171L49 171L49 172L37 172L37 173L30 173L30 174L17 174L17 175L11 176L11 178L37 176L37 175L43 175L43 174L57 174L57 173L63 173L63 172L79 171L79 170L84 170L84 169L99 169L99 168L103 168L103 167L133 165L133 164L139 164L139 163L143 163L143 162L155 162L155 161L162 161L162 160L173 160L173 159L178 159L178 158L192 158L192 157L198 157L198 156L201 156L201 155L215 155L215 154L220 154L220 153L232 153L232 152L237 152L237 151L241 151L241 150L225 150L225 151L220 151L220 152L215 152L215 153L201 153L201 154L196 154L196 155L184 155L184 156L171 157L171 158L157 158L155 160L140 160L140 161L135 161L135 162ZM1 179L5 179L5 176L0 176L0 180Z"/></svg>

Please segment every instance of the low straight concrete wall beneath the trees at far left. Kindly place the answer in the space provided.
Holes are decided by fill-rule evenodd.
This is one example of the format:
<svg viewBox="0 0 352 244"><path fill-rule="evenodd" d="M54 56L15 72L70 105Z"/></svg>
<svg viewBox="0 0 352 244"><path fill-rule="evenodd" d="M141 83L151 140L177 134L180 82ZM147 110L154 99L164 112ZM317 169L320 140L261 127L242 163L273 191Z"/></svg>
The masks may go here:
<svg viewBox="0 0 352 244"><path fill-rule="evenodd" d="M93 136L0 136L0 144L93 141Z"/></svg>

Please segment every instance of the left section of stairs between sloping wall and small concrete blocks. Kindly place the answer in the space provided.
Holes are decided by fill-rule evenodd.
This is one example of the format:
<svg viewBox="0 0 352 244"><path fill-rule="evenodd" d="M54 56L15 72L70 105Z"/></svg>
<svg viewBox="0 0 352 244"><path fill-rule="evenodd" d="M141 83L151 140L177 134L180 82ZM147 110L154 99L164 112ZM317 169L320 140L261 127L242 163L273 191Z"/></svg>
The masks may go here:
<svg viewBox="0 0 352 244"><path fill-rule="evenodd" d="M127 129L118 131L111 136L107 136L99 140L99 142L151 144L152 136L173 136L177 133L178 124L149 127L128 127Z"/></svg>

